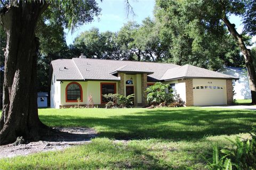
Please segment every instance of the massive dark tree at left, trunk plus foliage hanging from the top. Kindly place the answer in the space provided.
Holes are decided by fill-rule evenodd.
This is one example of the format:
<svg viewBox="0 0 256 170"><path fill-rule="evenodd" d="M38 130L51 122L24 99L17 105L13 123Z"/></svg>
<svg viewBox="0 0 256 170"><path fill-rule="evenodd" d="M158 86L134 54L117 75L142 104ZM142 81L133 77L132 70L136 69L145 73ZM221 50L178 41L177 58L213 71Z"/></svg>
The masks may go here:
<svg viewBox="0 0 256 170"><path fill-rule="evenodd" d="M39 140L54 132L39 120L37 111L38 19L51 8L49 18L74 31L77 25L92 21L100 8L94 0L2 0L0 7L1 24L6 32L0 145L14 142L20 136Z"/></svg>

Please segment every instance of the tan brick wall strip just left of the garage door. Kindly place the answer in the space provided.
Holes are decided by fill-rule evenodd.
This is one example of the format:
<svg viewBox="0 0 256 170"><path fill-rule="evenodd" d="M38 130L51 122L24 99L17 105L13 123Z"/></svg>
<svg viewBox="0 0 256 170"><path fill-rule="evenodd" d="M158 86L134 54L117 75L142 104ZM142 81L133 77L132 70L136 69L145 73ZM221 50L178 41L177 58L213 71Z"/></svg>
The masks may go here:
<svg viewBox="0 0 256 170"><path fill-rule="evenodd" d="M178 83L186 83L186 106L194 106L193 79L178 80Z"/></svg>

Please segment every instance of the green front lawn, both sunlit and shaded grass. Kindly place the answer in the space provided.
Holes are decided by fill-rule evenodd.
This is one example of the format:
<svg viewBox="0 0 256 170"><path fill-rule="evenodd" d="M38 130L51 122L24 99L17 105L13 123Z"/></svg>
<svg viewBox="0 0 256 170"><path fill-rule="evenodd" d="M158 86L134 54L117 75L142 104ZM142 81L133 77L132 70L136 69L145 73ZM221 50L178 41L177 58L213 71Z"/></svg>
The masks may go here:
<svg viewBox="0 0 256 170"><path fill-rule="evenodd" d="M0 169L205 169L214 142L247 137L256 113L217 108L39 109L50 126L97 130L84 146L0 159ZM127 143L113 142L129 140Z"/></svg>

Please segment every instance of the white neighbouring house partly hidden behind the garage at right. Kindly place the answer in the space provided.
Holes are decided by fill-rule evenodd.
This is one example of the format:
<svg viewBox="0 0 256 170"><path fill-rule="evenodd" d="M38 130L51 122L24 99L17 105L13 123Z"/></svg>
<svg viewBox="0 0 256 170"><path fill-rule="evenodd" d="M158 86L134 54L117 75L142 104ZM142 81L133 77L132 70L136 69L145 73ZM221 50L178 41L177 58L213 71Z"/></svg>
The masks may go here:
<svg viewBox="0 0 256 170"><path fill-rule="evenodd" d="M239 80L233 80L235 99L251 99L251 90L246 68L225 66L218 72L239 78Z"/></svg>

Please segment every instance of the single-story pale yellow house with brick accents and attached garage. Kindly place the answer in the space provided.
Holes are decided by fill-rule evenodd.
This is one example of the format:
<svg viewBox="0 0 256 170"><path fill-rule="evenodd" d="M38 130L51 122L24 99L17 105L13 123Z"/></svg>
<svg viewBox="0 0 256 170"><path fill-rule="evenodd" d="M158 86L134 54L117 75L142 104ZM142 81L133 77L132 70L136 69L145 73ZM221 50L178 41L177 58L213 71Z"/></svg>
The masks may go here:
<svg viewBox="0 0 256 170"><path fill-rule="evenodd" d="M170 83L187 106L233 102L232 80L238 79L192 65L89 58L51 62L51 107L106 103L104 94L134 94L134 106L145 106L145 90L155 82ZM79 100L79 101L78 101Z"/></svg>

